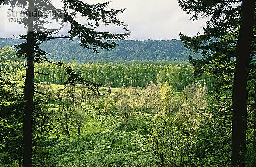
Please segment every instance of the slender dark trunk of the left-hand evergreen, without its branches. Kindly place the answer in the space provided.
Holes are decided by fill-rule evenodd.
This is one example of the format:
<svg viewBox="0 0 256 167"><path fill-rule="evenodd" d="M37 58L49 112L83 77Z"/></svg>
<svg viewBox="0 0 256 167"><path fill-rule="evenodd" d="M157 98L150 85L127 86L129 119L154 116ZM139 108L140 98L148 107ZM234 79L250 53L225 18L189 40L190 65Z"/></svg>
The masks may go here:
<svg viewBox="0 0 256 167"><path fill-rule="evenodd" d="M34 46L33 46L33 16L34 0L29 0L30 13L27 23L27 69L24 86L24 101L26 104L23 123L23 164L31 167L32 164L32 127L33 127L33 95L34 95Z"/></svg>

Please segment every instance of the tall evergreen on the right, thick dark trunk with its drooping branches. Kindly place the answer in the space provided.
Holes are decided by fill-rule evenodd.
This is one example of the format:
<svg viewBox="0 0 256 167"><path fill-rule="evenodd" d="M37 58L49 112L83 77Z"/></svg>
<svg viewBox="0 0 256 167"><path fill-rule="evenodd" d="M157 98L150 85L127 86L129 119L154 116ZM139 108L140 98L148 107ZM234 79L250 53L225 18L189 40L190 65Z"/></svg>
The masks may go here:
<svg viewBox="0 0 256 167"><path fill-rule="evenodd" d="M187 37L180 33L185 47L198 52L201 60L190 58L195 72L210 69L218 78L218 88L232 88L231 166L244 167L247 130L247 80L252 63L255 0L179 0L180 7L192 20L210 17L204 34ZM234 76L228 78L227 75ZM222 89L223 90L223 89ZM228 94L226 94L229 96Z"/></svg>

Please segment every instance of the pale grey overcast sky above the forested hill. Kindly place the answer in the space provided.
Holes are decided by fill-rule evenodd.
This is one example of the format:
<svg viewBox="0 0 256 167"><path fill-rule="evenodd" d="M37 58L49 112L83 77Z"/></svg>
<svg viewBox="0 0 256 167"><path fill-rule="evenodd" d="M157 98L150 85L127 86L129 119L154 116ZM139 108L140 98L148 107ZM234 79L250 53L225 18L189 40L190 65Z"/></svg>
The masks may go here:
<svg viewBox="0 0 256 167"><path fill-rule="evenodd" d="M106 2L105 0L83 0L86 3ZM25 29L17 23L8 23L6 9L1 7L0 37L12 37L25 33ZM180 39L179 32L194 36L202 32L205 19L198 21L189 20L189 15L178 6L177 0L111 0L108 9L126 8L119 15L125 24L129 25L131 36L129 40L172 40ZM1 19L1 20L2 20ZM78 17L79 21L83 21ZM60 34L66 34L69 27L63 29ZM115 26L100 26L99 31L122 33L122 28Z"/></svg>

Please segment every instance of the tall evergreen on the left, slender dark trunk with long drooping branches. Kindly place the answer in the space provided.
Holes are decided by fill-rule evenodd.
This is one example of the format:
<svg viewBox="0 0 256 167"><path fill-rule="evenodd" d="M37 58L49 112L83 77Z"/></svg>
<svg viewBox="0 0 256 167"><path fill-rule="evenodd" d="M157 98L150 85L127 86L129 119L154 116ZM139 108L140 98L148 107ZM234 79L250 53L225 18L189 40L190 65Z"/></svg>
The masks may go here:
<svg viewBox="0 0 256 167"><path fill-rule="evenodd" d="M99 26L100 21L102 21L104 25L113 23L116 26L122 26L124 30L127 31L127 25L116 17L118 14L122 14L124 9L106 10L109 2L93 5L89 5L80 0L64 0L62 2L63 10L53 6L50 0L0 1L0 5L9 5L11 9L15 6L20 7L22 9L21 12L27 16L20 21L20 23L27 28L27 34L20 35L26 42L15 46L18 49L16 51L17 56L25 56L27 59L24 87L24 101L26 107L23 123L23 162L26 167L31 167L32 164L32 111L34 107L34 93L40 93L34 90L34 74L42 74L41 72L35 72L34 62L38 63L43 60L52 63L47 60L47 52L41 50L39 44L49 39L68 38L69 40L73 40L74 38L78 38L81 40L81 46L88 49L92 48L95 53L98 53L97 48L113 49L117 45L113 40L122 40L130 34L111 34L109 32L96 32L94 30ZM48 29L45 25L49 23L46 20L49 16L44 15L46 13L52 14L51 19L59 22L61 25L60 28L62 28L65 23L69 23L71 25L69 35L58 37L56 35L59 29ZM86 17L88 20L87 25L83 25L75 20L76 14L81 14L83 17ZM93 90L99 87L98 84L81 78L81 75L71 70L70 67L65 67L62 63L54 64L64 67L66 73L70 75L65 83L79 81L91 86Z"/></svg>

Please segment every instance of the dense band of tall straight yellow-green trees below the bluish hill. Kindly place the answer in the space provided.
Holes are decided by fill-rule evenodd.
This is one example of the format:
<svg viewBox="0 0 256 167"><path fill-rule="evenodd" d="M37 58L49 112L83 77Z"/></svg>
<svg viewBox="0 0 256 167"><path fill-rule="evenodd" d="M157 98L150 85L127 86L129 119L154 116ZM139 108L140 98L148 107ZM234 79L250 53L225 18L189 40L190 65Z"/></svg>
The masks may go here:
<svg viewBox="0 0 256 167"><path fill-rule="evenodd" d="M10 47L0 49L0 68L6 72L5 79L9 81L23 81L25 75L24 62L15 58L15 50ZM55 61L52 60L54 63ZM104 62L104 61L103 61ZM106 62L106 61L105 61ZM142 64L140 61L125 61L126 63L116 63L110 61L109 63L84 63L76 62L65 63L64 66L70 66L71 69L81 73L81 76L95 83L105 85L108 82L112 83L113 87L121 86L139 86L145 87L149 83L164 83L168 82L175 90L182 90L183 87L188 86L192 82L201 83L202 86L207 87L208 90L213 89L214 78L205 72L198 78L193 76L195 69L193 66L186 65L186 62L180 62L177 65L152 65ZM121 61L122 62L122 61ZM140 63L137 64L136 62ZM143 62L143 61L142 61ZM146 61L147 62L147 61ZM151 61L157 63L158 61ZM162 61L160 61L162 62ZM158 62L158 63L160 63ZM167 61L169 62L169 61ZM179 63L170 62L171 64ZM185 63L185 65L183 64ZM67 80L65 70L60 66L55 66L52 63L38 63L35 64L35 70L48 75L35 74L35 82L47 82L53 84L64 84Z"/></svg>

